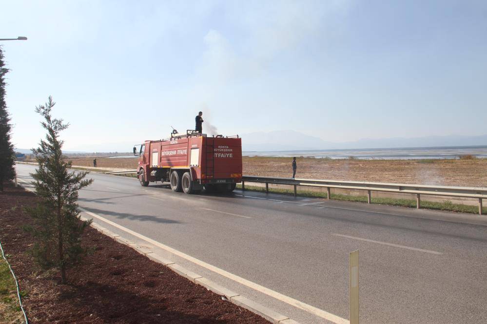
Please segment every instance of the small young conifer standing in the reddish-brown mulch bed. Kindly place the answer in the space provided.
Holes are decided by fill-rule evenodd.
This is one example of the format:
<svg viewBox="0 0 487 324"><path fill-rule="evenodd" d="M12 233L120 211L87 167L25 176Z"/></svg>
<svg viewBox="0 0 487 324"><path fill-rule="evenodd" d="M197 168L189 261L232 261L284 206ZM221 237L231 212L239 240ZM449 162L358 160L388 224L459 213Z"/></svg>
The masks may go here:
<svg viewBox="0 0 487 324"><path fill-rule="evenodd" d="M81 247L81 234L91 221L81 221L78 213L78 190L90 185L93 180L84 180L88 172L69 172L71 162L62 156L63 141L59 133L69 124L62 119L53 119L51 110L55 102L36 107L47 130L46 139L33 149L39 166L31 176L41 203L27 211L34 218L34 226L26 229L36 238L32 249L38 263L45 269L58 268L62 283L66 283L66 269L81 261L87 249Z"/></svg>

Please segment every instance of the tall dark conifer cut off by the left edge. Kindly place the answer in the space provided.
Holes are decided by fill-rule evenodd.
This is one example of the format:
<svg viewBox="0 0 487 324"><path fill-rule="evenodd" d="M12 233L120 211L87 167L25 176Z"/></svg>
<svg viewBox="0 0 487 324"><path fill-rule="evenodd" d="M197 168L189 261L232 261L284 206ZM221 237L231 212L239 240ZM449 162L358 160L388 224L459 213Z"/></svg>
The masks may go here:
<svg viewBox="0 0 487 324"><path fill-rule="evenodd" d="M15 177L14 145L10 142L12 127L5 103L5 74L7 72L0 46L0 191L3 191L3 181L12 180Z"/></svg>

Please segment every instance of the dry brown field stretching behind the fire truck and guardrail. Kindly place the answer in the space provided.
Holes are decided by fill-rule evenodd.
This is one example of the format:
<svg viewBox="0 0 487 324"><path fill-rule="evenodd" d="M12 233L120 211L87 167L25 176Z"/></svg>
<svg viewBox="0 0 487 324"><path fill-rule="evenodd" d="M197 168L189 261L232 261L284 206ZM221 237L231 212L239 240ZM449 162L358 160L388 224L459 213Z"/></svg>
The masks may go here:
<svg viewBox="0 0 487 324"><path fill-rule="evenodd" d="M93 158L72 159L93 166ZM291 177L291 158L243 157L243 174ZM98 167L135 169L137 159L98 158ZM297 158L296 178L487 187L487 159L326 160Z"/></svg>

